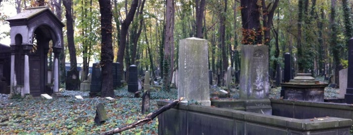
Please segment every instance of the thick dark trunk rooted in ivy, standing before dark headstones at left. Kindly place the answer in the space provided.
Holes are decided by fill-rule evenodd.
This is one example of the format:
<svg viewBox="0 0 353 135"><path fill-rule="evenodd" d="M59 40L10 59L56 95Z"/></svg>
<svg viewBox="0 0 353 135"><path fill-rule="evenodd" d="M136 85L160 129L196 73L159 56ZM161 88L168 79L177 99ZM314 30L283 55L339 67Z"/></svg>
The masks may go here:
<svg viewBox="0 0 353 135"><path fill-rule="evenodd" d="M115 97L113 90L113 45L112 45L112 5L110 1L99 0L100 28L102 35L100 66L102 67L102 97Z"/></svg>

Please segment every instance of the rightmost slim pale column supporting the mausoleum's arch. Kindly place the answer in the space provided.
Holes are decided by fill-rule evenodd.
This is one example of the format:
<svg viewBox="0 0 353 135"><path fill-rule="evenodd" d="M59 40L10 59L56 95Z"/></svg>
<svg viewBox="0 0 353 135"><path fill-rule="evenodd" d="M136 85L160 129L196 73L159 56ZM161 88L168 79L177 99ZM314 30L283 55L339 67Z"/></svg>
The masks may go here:
<svg viewBox="0 0 353 135"><path fill-rule="evenodd" d="M54 52L54 88L53 93L59 93L59 57L61 48L53 47Z"/></svg>

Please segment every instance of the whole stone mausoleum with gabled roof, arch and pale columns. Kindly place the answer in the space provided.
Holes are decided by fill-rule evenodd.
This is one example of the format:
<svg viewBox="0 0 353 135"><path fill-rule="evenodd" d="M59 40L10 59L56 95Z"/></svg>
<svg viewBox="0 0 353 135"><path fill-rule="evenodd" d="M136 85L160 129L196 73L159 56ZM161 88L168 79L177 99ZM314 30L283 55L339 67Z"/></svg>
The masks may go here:
<svg viewBox="0 0 353 135"><path fill-rule="evenodd" d="M11 27L11 93L57 94L64 24L47 7L25 9L7 21ZM52 53L53 64L48 64Z"/></svg>

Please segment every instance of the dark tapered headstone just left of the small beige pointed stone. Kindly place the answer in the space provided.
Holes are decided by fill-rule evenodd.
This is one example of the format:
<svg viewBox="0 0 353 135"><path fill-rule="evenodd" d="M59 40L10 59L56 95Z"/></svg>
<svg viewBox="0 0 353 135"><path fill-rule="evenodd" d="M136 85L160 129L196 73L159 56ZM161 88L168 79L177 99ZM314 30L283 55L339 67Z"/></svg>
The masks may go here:
<svg viewBox="0 0 353 135"><path fill-rule="evenodd" d="M127 84L127 90L129 92L137 92L138 91L138 83L137 83L137 66L130 65L129 66L129 79Z"/></svg>

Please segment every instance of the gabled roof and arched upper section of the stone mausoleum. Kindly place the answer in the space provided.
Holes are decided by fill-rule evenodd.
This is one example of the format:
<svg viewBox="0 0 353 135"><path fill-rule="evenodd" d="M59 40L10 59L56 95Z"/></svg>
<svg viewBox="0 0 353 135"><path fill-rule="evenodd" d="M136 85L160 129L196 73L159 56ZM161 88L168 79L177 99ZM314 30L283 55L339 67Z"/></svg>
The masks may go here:
<svg viewBox="0 0 353 135"><path fill-rule="evenodd" d="M15 45L14 37L17 34L21 34L22 44L33 44L34 31L38 27L45 27L51 30L43 31L43 35L53 38L54 47L62 47L62 28L65 25L46 6L27 8L6 21L10 22L11 45Z"/></svg>

